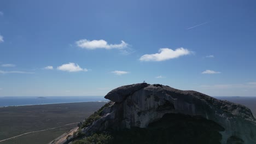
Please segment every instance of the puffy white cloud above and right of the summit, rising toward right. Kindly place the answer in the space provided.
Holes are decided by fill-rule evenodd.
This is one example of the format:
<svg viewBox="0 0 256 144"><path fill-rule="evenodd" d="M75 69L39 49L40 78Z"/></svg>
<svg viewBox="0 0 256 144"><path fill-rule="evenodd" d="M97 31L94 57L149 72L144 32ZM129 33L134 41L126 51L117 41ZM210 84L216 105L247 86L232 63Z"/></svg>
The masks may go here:
<svg viewBox="0 0 256 144"><path fill-rule="evenodd" d="M166 61L168 59L189 55L190 53L192 52L187 49L184 49L183 47L178 48L174 51L172 49L163 48L159 50L159 53L143 55L141 56L141 58L139 58L139 60L140 61Z"/></svg>

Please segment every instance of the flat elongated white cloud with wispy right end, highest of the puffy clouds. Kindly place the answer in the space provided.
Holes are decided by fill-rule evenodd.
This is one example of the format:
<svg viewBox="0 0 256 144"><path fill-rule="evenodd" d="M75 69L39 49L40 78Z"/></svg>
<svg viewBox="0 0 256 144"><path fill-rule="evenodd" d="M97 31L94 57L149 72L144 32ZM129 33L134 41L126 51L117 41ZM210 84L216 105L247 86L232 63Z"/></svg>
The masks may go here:
<svg viewBox="0 0 256 144"><path fill-rule="evenodd" d="M95 49L124 49L128 46L125 41L121 41L120 44L108 44L105 40L87 40L80 39L75 42L78 47L82 47L83 49L95 50Z"/></svg>

